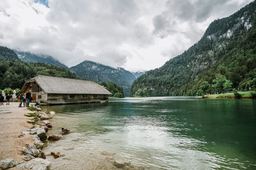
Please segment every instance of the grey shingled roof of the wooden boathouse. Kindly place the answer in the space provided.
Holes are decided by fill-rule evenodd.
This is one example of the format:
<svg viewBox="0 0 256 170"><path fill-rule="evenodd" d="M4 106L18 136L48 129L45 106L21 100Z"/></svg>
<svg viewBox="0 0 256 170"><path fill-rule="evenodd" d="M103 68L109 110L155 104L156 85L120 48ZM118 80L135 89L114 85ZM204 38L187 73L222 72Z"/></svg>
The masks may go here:
<svg viewBox="0 0 256 170"><path fill-rule="evenodd" d="M36 81L41 89L49 94L111 94L101 85L87 80L38 75L26 83L31 81Z"/></svg>

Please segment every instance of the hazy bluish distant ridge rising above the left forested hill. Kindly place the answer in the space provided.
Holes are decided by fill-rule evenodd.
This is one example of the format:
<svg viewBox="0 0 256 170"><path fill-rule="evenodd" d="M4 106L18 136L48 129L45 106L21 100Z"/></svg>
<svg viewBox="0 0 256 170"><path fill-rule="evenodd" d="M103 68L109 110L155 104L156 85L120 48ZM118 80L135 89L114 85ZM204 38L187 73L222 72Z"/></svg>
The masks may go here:
<svg viewBox="0 0 256 170"><path fill-rule="evenodd" d="M19 52L17 50L13 50L20 60L24 62L41 62L45 64L50 64L53 66L60 66L65 69L68 69L67 66L59 62L58 60L54 59L53 57L49 55L42 55L42 54L35 54L30 52Z"/></svg>

